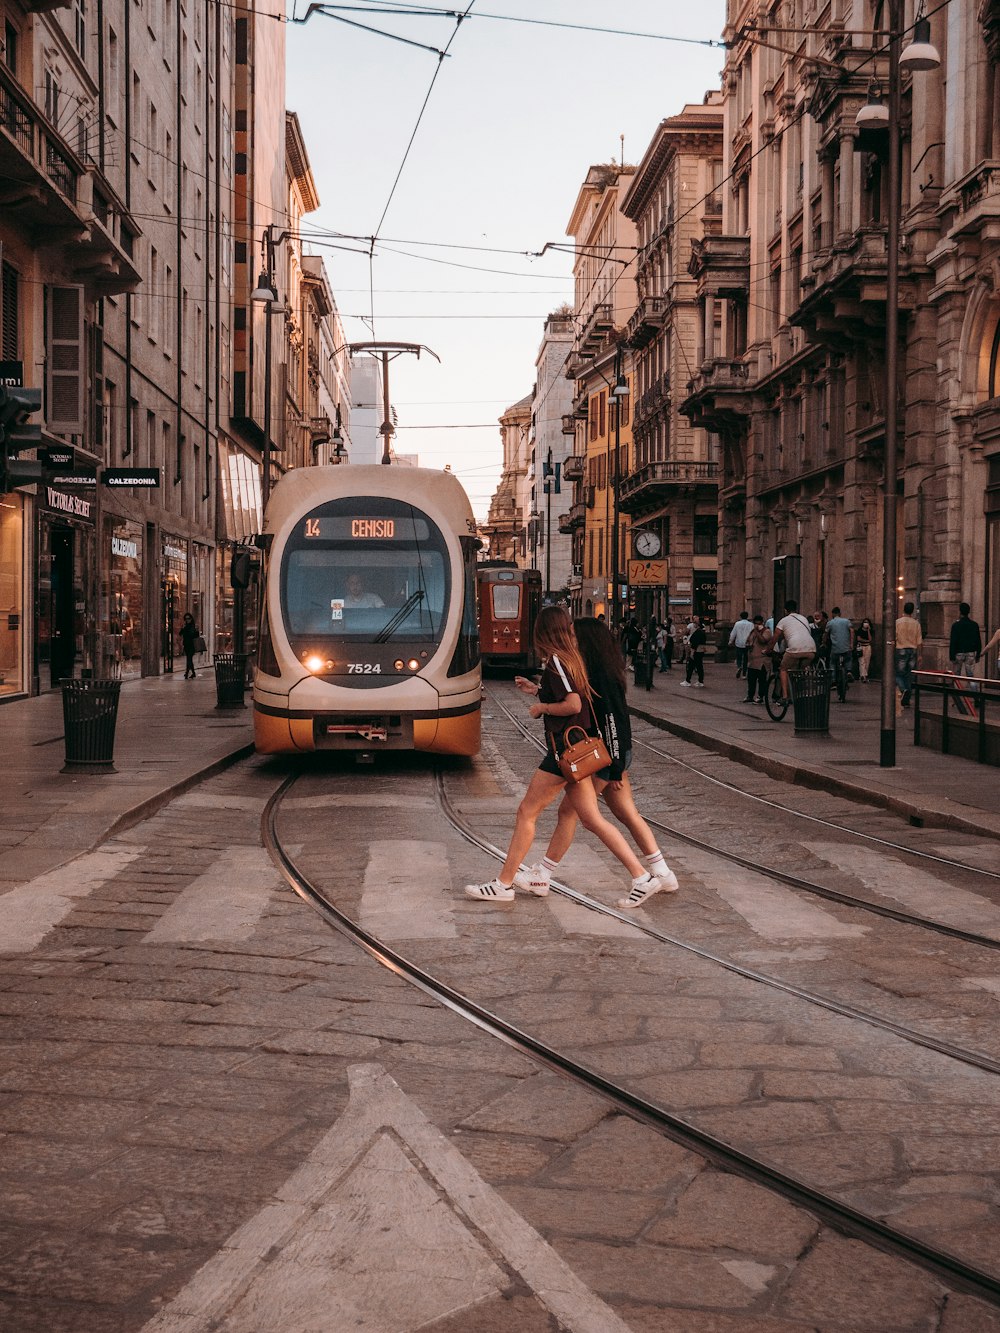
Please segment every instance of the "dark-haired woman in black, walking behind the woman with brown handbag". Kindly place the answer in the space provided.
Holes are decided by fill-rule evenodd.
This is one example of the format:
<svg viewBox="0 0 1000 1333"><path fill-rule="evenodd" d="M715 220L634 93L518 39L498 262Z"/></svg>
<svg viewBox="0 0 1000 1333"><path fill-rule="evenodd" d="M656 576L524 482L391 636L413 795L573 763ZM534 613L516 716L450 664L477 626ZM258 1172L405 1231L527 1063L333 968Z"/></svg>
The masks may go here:
<svg viewBox="0 0 1000 1333"><path fill-rule="evenodd" d="M625 702L625 660L613 636L596 620L576 620L573 629L587 668L587 678L593 690L595 720L611 756L609 766L595 773L593 785L619 824L624 824L632 834L641 860L652 876L649 881L633 885L631 893L617 904L620 908L639 908L655 893L676 892L677 877L664 861L656 837L636 809L628 777L632 762L632 725ZM577 813L567 790L544 857L537 865L528 866L515 876L515 888L539 897L548 893L552 876L573 841L576 825Z"/></svg>

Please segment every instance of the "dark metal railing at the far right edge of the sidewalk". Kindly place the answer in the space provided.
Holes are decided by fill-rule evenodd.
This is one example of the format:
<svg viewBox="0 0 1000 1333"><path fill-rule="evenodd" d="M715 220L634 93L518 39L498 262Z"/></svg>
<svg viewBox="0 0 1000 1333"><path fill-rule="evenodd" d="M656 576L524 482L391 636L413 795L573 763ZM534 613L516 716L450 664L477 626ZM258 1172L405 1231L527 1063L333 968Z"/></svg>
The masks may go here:
<svg viewBox="0 0 1000 1333"><path fill-rule="evenodd" d="M963 753L979 764L1000 764L1000 681L943 670L917 670L912 680L913 745L933 744L933 730L940 736L943 754ZM928 706L928 698L940 700L940 706Z"/></svg>

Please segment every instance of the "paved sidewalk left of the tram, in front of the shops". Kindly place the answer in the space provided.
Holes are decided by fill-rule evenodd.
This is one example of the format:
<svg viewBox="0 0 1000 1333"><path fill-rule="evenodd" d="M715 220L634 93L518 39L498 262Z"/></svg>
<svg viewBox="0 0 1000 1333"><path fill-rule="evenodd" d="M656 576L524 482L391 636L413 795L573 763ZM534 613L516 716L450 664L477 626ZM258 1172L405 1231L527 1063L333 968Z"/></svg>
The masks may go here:
<svg viewBox="0 0 1000 1333"><path fill-rule="evenodd" d="M247 694L249 700L249 693ZM89 852L112 830L252 753L249 706L216 709L215 673L183 672L124 681L115 733L115 773L60 773L63 694L0 706L3 825L0 888Z"/></svg>

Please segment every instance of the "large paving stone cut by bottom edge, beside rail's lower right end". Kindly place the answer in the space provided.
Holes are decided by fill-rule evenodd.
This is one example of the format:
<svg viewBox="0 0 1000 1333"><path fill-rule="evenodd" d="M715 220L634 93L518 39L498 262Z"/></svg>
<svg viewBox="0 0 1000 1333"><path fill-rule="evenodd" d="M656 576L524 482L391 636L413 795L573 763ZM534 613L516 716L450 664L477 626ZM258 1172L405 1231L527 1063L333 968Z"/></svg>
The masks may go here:
<svg viewBox="0 0 1000 1333"><path fill-rule="evenodd" d="M835 1328L896 1333L933 1329L940 1285L920 1269L860 1241L825 1232L796 1268L775 1302L775 1313L823 1320Z"/></svg>

